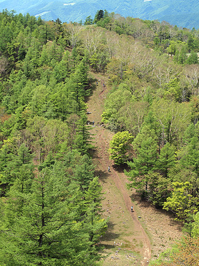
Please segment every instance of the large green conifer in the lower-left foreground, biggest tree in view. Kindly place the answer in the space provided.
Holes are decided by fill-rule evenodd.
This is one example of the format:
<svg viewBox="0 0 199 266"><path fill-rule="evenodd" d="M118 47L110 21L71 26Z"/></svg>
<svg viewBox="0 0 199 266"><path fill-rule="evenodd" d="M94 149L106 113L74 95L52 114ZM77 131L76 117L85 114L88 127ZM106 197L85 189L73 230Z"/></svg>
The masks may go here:
<svg viewBox="0 0 199 266"><path fill-rule="evenodd" d="M48 168L29 190L21 192L16 183L9 200L1 201L3 265L95 265L98 255L81 217L83 204L77 185Z"/></svg>

